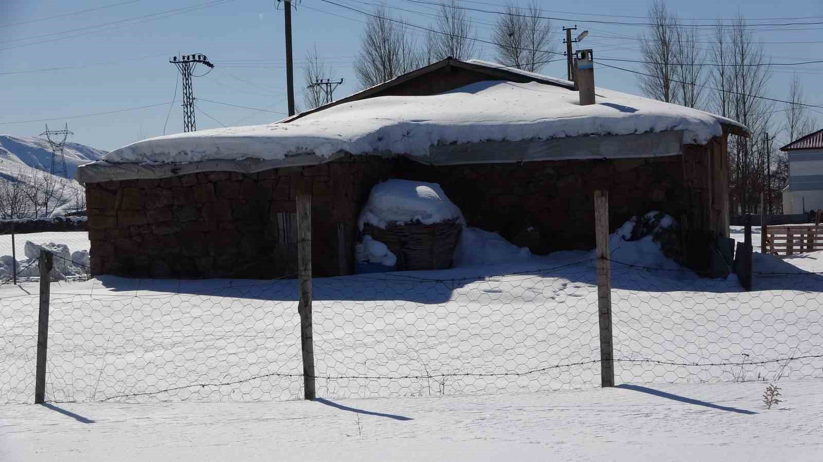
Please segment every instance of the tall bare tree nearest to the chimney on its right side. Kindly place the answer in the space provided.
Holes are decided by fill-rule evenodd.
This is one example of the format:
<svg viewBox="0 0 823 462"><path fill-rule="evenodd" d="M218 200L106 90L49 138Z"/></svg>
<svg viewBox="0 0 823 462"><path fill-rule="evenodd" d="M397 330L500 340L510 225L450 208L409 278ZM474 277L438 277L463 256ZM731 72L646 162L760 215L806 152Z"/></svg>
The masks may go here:
<svg viewBox="0 0 823 462"><path fill-rule="evenodd" d="M640 40L644 74L639 76L640 89L651 98L676 102L677 93L677 16L663 0L649 7L649 35Z"/></svg>

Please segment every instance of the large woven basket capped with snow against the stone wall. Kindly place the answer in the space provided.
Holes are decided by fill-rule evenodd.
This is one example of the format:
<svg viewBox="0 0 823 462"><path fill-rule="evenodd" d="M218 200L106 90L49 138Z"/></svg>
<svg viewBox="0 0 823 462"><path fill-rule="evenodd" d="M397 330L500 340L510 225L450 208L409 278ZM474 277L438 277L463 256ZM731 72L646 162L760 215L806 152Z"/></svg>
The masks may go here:
<svg viewBox="0 0 823 462"><path fill-rule="evenodd" d="M444 270L452 266L465 220L439 184L393 179L372 188L357 224L361 245L383 243L396 270Z"/></svg>

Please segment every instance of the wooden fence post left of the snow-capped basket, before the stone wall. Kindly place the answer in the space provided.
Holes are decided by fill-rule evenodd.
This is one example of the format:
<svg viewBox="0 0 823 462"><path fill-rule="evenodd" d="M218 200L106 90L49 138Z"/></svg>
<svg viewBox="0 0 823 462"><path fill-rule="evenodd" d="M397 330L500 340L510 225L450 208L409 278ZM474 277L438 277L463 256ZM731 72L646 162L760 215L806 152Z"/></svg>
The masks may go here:
<svg viewBox="0 0 823 462"><path fill-rule="evenodd" d="M312 178L295 177L297 184L297 278L300 284L300 349L303 351L303 392L306 400L317 397L312 339L311 196Z"/></svg>

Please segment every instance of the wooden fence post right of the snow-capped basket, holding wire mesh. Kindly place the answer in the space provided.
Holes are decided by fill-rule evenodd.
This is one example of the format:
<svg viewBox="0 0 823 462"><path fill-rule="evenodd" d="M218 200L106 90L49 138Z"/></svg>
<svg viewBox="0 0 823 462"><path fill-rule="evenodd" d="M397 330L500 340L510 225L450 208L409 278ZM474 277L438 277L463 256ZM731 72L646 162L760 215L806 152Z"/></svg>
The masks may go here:
<svg viewBox="0 0 823 462"><path fill-rule="evenodd" d="M609 193L594 192L594 229L597 239L597 312L600 327L600 384L615 386L614 346L611 338L611 262L609 261Z"/></svg>

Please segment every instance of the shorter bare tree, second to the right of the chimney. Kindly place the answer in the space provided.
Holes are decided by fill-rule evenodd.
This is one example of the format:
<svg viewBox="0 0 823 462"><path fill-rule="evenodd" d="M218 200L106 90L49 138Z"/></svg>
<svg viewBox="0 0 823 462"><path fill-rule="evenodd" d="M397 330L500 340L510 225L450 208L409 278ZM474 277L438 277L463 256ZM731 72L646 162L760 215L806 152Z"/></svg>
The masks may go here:
<svg viewBox="0 0 823 462"><path fill-rule="evenodd" d="M700 108L706 76L703 72L705 53L697 46L699 35L695 27L675 30L675 83L677 102L688 108Z"/></svg>

